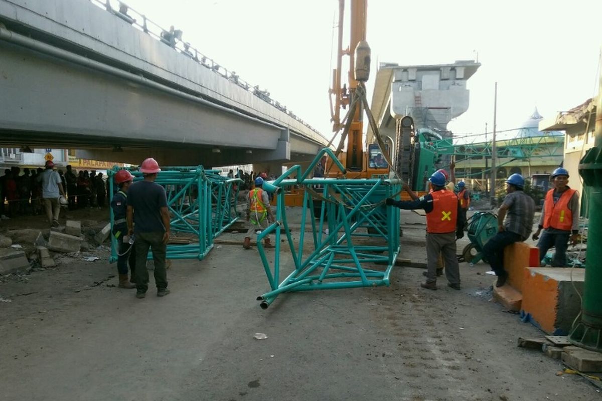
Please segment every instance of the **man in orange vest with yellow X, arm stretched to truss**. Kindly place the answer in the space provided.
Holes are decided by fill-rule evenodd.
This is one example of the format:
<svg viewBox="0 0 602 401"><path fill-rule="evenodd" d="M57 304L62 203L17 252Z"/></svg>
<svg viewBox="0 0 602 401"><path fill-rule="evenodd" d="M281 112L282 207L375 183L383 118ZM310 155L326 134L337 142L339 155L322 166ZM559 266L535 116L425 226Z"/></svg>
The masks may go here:
<svg viewBox="0 0 602 401"><path fill-rule="evenodd" d="M411 201L396 201L387 198L388 206L399 209L424 209L426 212L426 283L420 286L429 290L437 289L437 260L439 253L445 261L445 276L448 286L460 289L460 269L456 257L456 239L464 237L464 221L459 219L460 203L453 191L445 189L445 176L435 171L430 176L429 194Z"/></svg>

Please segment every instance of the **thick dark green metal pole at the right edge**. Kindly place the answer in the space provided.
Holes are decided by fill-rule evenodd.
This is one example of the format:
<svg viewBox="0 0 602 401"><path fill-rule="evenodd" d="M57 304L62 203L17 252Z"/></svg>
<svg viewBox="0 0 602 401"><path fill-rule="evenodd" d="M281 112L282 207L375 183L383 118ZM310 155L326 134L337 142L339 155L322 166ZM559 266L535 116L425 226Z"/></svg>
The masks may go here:
<svg viewBox="0 0 602 401"><path fill-rule="evenodd" d="M600 52L602 62L602 49ZM588 135L586 132L585 135ZM579 164L584 194L589 194L588 246L585 254L585 282L581 322L569 335L571 343L587 349L602 351L602 72L596 105L595 145ZM589 190L589 191L588 191Z"/></svg>

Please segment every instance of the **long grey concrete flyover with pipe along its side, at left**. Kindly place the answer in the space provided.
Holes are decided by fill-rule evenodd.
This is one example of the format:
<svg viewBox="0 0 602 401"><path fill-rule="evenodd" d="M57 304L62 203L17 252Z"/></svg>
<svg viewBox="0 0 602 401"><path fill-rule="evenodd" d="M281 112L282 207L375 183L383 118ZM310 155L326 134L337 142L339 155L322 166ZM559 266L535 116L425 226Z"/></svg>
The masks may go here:
<svg viewBox="0 0 602 401"><path fill-rule="evenodd" d="M92 2L0 0L0 23L2 145L216 166L302 161L327 144L231 73Z"/></svg>

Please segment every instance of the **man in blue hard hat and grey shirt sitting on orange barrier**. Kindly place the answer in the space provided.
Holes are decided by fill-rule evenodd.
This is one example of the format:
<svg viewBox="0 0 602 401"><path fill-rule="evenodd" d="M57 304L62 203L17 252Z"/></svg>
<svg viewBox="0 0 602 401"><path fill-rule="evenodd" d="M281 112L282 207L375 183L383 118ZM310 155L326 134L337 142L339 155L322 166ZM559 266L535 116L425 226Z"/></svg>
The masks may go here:
<svg viewBox="0 0 602 401"><path fill-rule="evenodd" d="M512 174L506 180L506 197L497 212L498 232L483 246L483 259L487 260L497 275L496 287L506 284L504 248L511 243L524 241L533 231L535 202L523 192L525 180L520 174ZM505 221L504 221L505 218Z"/></svg>

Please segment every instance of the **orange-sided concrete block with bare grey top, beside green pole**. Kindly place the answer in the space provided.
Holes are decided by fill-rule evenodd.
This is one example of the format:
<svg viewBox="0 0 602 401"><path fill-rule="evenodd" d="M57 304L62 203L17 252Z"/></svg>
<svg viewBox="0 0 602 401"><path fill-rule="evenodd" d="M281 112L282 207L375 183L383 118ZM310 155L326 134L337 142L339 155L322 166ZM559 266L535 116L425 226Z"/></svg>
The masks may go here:
<svg viewBox="0 0 602 401"><path fill-rule="evenodd" d="M523 304L525 322L551 335L567 335L579 314L581 302L575 287L583 292L585 269L526 268L523 272Z"/></svg>

